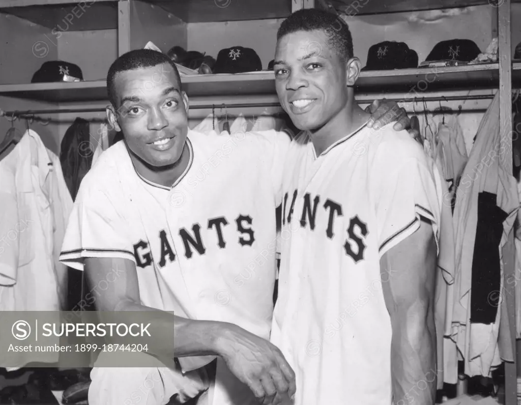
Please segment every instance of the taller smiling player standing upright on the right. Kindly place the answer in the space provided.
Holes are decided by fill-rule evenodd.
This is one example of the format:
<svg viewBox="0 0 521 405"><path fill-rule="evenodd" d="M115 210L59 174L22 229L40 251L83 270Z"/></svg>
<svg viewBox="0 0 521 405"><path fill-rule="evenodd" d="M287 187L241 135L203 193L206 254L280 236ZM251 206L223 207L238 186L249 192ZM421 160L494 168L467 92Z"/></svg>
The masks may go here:
<svg viewBox="0 0 521 405"><path fill-rule="evenodd" d="M294 403L434 404L441 177L405 131L367 127L344 21L297 11L277 39L277 94L304 130L283 170L271 332Z"/></svg>

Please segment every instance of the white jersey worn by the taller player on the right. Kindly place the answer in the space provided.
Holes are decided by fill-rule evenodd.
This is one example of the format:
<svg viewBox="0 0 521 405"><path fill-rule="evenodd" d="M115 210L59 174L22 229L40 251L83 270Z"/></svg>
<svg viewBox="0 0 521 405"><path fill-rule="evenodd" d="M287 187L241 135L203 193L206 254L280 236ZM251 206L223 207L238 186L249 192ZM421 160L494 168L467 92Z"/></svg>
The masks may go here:
<svg viewBox="0 0 521 405"><path fill-rule="evenodd" d="M442 197L433 163L392 125L363 126L318 157L306 135L290 146L271 340L296 373L296 405L391 403L380 258L419 216L437 235Z"/></svg>

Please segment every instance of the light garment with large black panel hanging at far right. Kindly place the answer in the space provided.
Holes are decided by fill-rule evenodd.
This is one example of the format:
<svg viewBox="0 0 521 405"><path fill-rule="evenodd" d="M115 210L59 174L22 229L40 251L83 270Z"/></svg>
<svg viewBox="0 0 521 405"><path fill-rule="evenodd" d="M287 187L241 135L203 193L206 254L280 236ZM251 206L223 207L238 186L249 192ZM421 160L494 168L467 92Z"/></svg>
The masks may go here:
<svg viewBox="0 0 521 405"><path fill-rule="evenodd" d="M465 359L468 376L490 376L492 367L501 363L500 305L494 294L503 289L500 252L519 206L515 179L502 166L509 143L510 136L500 136L496 94L480 122L454 207L456 296L452 335Z"/></svg>

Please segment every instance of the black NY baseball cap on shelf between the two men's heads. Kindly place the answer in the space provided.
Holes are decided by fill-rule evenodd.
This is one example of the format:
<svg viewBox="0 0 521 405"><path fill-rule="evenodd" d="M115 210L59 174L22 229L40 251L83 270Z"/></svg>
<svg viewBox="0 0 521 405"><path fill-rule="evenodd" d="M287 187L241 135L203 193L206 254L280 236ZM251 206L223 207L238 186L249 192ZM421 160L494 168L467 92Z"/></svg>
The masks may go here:
<svg viewBox="0 0 521 405"><path fill-rule="evenodd" d="M214 73L245 73L262 70L261 58L252 48L232 46L221 49L214 65Z"/></svg>

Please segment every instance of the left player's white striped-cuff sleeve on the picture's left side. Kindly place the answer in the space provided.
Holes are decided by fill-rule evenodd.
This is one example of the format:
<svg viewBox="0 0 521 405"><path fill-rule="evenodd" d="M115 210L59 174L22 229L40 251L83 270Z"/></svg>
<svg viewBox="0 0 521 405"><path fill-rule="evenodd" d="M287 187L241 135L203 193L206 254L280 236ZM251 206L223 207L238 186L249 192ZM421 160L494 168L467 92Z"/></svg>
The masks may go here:
<svg viewBox="0 0 521 405"><path fill-rule="evenodd" d="M135 263L128 225L112 200L95 187L80 187L65 231L61 263L78 270L83 270L85 257L113 257Z"/></svg>

